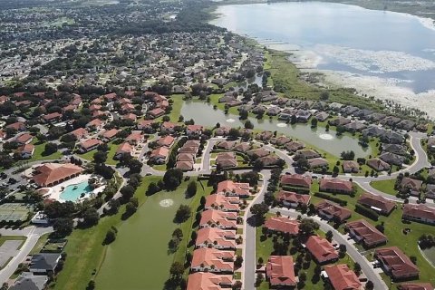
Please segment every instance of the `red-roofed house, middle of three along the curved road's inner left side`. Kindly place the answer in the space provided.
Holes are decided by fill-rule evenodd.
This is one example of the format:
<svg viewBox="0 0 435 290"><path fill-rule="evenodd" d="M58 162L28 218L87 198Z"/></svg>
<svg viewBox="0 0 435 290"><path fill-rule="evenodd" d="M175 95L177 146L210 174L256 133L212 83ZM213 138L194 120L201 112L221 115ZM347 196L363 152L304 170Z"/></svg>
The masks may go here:
<svg viewBox="0 0 435 290"><path fill-rule="evenodd" d="M338 251L326 238L310 236L305 242L306 249L311 253L317 263L324 265L338 260Z"/></svg>

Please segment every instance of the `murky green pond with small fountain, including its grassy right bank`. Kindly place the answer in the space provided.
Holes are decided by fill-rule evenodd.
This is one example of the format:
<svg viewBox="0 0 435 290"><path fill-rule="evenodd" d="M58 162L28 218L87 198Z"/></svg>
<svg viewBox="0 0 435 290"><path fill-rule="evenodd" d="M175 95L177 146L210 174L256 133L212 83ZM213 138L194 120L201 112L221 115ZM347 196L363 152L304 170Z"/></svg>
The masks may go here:
<svg viewBox="0 0 435 290"><path fill-rule="evenodd" d="M180 204L189 204L195 210L200 197L206 193L198 184L197 195L188 199L185 197L187 184L183 183L175 191L159 192L146 198L137 213L118 227L118 238L107 248L101 270L96 276L97 289L163 288L174 259L184 261L195 218L192 214L188 221L177 225L173 222L175 211ZM164 208L160 202L167 199L173 204ZM174 255L169 253L168 243L177 227L183 230L184 238Z"/></svg>

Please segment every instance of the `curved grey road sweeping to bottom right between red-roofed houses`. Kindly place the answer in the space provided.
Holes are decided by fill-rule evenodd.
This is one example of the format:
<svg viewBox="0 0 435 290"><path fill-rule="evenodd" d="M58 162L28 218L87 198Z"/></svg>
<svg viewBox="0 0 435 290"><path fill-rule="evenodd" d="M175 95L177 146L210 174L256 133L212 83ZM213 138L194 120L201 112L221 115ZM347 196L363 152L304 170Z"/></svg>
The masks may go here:
<svg viewBox="0 0 435 290"><path fill-rule="evenodd" d="M358 249L351 244L346 237L343 237L342 234L340 234L337 230L335 230L333 227L328 225L328 223L318 217L307 217L305 215L301 215L300 212L297 212L295 210L289 210L287 208L272 208L270 210L271 212L281 212L281 214L285 216L290 216L292 218L297 218L297 216L302 216L303 218L313 218L315 221L319 224L320 229L324 232L327 232L331 230L333 232L333 240L337 242L338 244L343 244L347 248L347 254L352 257L353 261L358 262L361 265L362 273L364 273L369 280L371 280L374 284L374 289L381 290L381 289L388 289L388 286L385 285L383 282L381 275L377 274L372 265L370 265L370 262L365 258L365 256L362 256Z"/></svg>

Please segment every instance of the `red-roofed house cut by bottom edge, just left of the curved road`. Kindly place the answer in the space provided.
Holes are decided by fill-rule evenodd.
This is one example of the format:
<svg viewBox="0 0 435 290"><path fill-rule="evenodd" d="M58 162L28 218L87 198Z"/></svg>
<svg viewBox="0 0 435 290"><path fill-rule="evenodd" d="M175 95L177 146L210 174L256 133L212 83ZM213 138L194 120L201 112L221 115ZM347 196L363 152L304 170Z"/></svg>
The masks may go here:
<svg viewBox="0 0 435 290"><path fill-rule="evenodd" d="M355 272L346 264L325 266L324 272L334 290L362 290L362 284Z"/></svg>

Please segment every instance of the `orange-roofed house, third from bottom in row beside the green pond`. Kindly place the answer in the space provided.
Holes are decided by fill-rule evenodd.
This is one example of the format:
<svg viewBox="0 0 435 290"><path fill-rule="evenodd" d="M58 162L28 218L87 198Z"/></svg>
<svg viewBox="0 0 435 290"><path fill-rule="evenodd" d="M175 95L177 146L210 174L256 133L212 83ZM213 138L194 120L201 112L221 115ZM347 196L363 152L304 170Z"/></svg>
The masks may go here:
<svg viewBox="0 0 435 290"><path fill-rule="evenodd" d="M195 247L211 247L219 250L236 249L236 230L203 227L198 229Z"/></svg>

